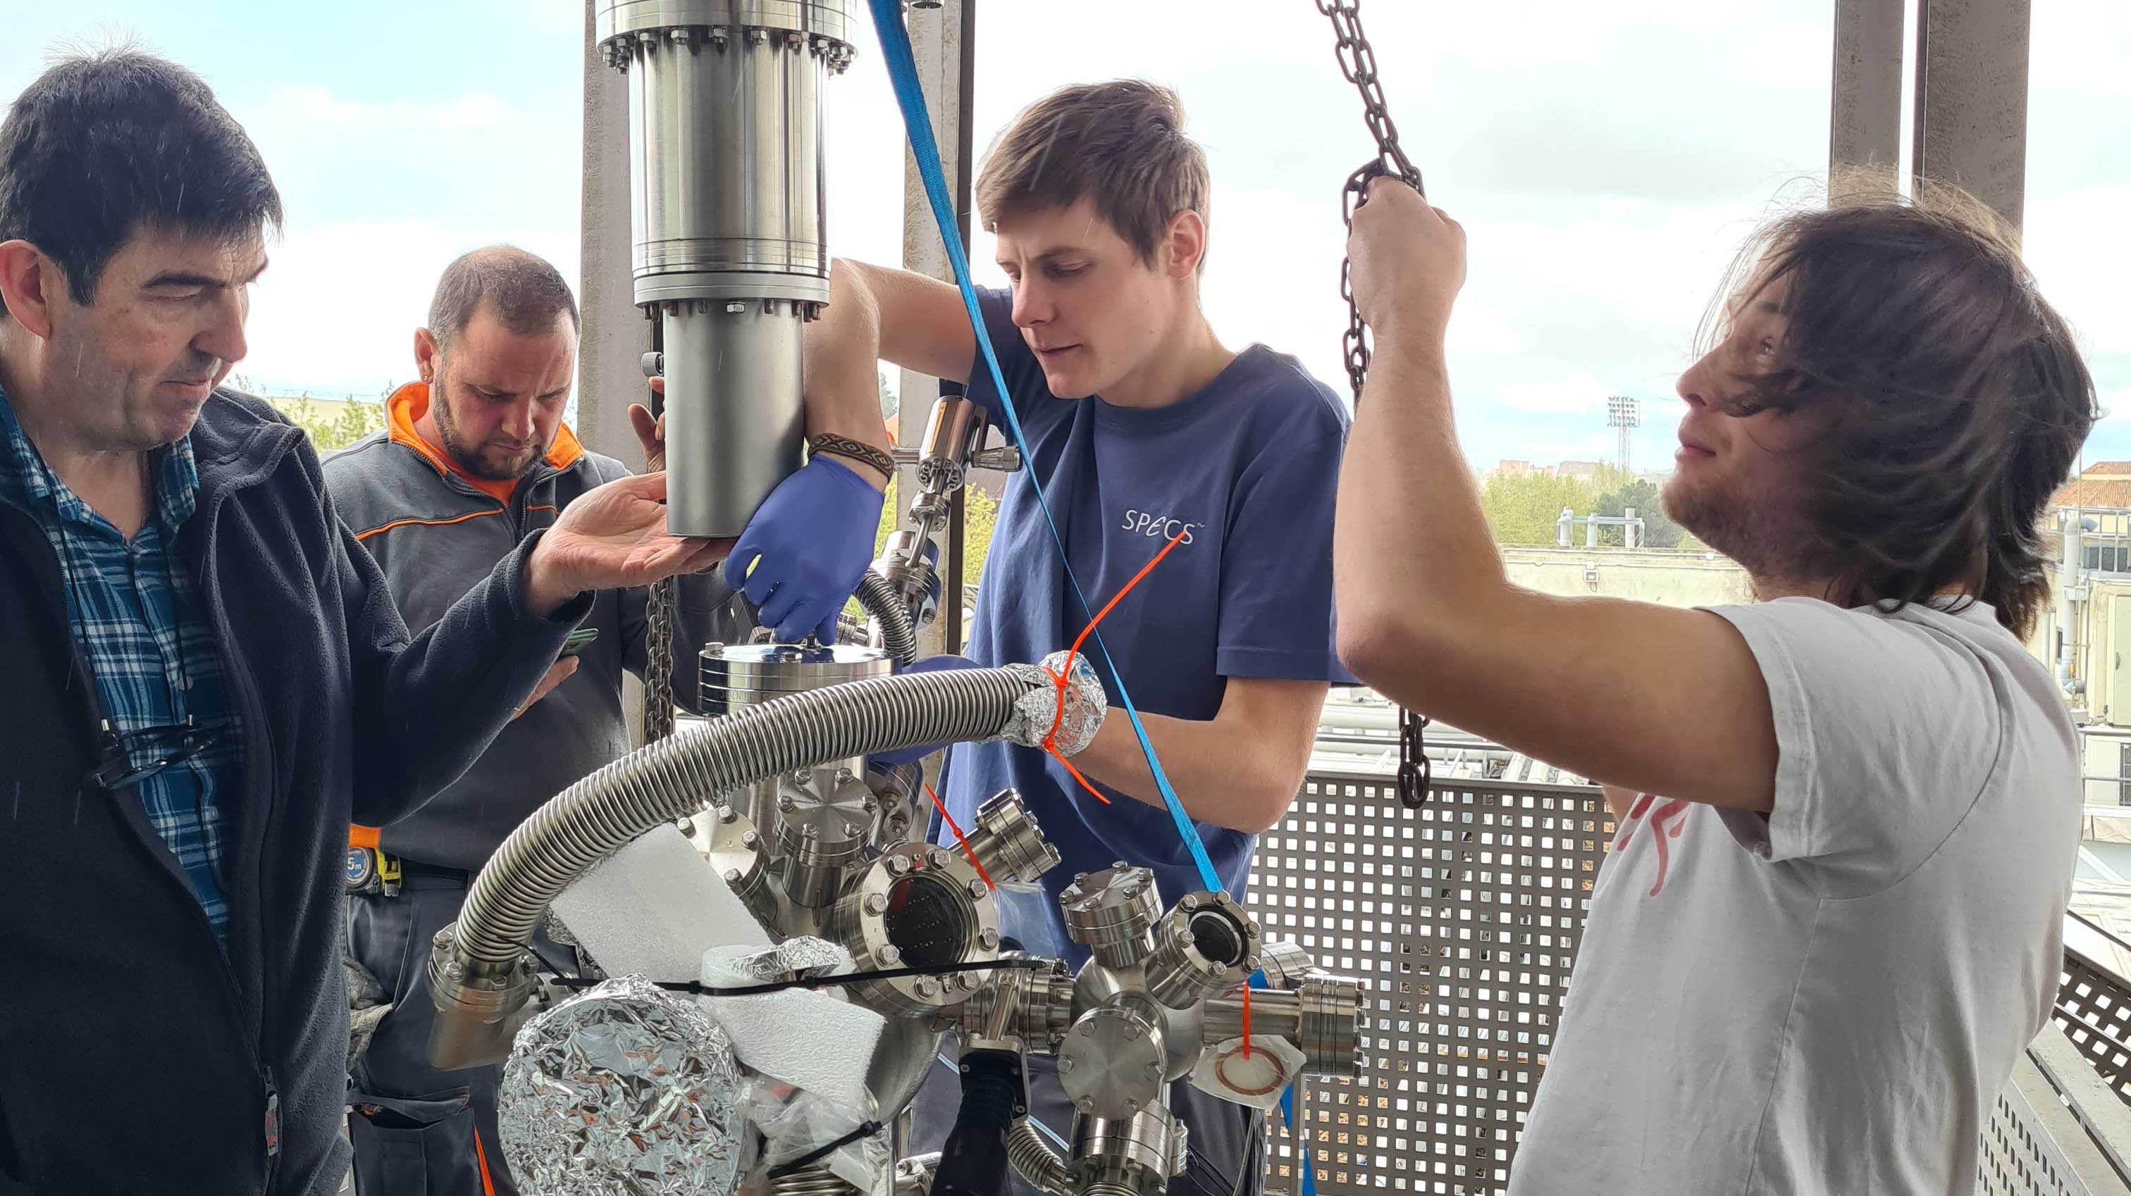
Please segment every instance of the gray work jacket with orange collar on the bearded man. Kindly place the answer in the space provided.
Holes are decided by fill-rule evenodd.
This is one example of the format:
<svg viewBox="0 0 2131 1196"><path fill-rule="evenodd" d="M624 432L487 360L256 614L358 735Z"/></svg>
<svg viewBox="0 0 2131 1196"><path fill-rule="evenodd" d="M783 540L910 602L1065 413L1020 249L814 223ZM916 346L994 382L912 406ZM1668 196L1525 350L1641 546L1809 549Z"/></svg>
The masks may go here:
<svg viewBox="0 0 2131 1196"><path fill-rule="evenodd" d="M326 487L341 519L377 558L409 628L443 617L535 528L556 521L584 492L627 477L614 458L586 451L560 428L548 458L507 500L460 477L413 423L428 387L409 383L388 400L390 426L326 460ZM754 624L720 570L676 585L673 700L697 709L697 658L705 643L744 643ZM599 638L578 672L503 728L452 787L386 826L379 847L439 868L479 870L503 838L571 783L629 751L622 670L644 677L644 589L599 594L580 628Z"/></svg>

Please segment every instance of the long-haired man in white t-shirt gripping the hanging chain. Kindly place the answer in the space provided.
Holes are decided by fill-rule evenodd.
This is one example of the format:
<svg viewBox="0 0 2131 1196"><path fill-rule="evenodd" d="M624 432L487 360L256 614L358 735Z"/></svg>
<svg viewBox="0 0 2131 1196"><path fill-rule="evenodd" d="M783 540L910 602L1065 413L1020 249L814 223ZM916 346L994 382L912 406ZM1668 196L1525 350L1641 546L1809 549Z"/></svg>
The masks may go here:
<svg viewBox="0 0 2131 1196"><path fill-rule="evenodd" d="M2065 321L1973 200L1762 230L1664 489L1760 600L1681 611L1504 579L1443 358L1464 230L1379 183L1349 253L1377 358L1340 658L1620 819L1511 1192L1967 1192L2078 847L2071 719L2022 649L2095 419Z"/></svg>

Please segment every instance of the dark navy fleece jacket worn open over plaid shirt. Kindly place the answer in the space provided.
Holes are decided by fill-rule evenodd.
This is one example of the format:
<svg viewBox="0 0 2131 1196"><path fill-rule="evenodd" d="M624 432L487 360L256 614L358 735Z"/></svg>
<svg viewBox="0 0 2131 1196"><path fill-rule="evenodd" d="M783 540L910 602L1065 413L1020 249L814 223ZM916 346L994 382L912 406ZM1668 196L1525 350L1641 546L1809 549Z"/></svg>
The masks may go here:
<svg viewBox="0 0 2131 1196"><path fill-rule="evenodd" d="M409 636L298 428L217 389L192 449L179 553L243 719L228 956L141 802L87 781L102 702L60 564L0 502L0 1194L332 1192L347 824L465 773L590 607L526 609L528 536Z"/></svg>

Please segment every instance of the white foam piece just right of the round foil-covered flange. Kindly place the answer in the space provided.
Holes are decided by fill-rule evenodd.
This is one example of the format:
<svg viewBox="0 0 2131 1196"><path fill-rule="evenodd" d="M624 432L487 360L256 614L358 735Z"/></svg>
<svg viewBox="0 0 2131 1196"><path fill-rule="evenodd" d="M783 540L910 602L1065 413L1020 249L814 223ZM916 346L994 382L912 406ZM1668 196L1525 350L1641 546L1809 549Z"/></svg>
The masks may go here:
<svg viewBox="0 0 2131 1196"><path fill-rule="evenodd" d="M746 947L714 947L699 960L705 985L759 983L737 968ZM848 962L846 962L848 966ZM865 1070L889 1019L827 992L705 996L703 1009L750 1068L846 1109L865 1109Z"/></svg>

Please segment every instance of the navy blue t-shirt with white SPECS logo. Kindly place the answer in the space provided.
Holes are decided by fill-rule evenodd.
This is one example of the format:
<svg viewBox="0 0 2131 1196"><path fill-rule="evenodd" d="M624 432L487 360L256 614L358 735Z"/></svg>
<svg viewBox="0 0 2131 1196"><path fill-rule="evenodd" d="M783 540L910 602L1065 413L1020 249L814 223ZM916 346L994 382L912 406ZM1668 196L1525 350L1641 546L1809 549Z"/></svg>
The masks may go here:
<svg viewBox="0 0 2131 1196"><path fill-rule="evenodd" d="M1006 500L978 585L970 658L1038 662L1072 647L1089 613L1072 596L1036 504L1040 481L1087 600L1100 611L1161 547L1176 547L1102 621L1100 634L1140 713L1213 719L1230 677L1351 685L1332 647L1332 498L1347 409L1294 358L1253 345L1210 383L1159 409L1100 396L1061 400L1012 321L1008 292L980 292L999 370L1029 438L1029 468ZM982 355L970 400L1006 436ZM1123 719L1095 649L1085 651ZM946 804L974 826L976 807L1021 790L1063 864L1044 877L1051 934L1066 943L1057 894L1074 873L1112 862L1153 868L1164 904L1204 887L1166 809L1108 792L1097 802L1051 755L1006 743L957 745ZM1223 885L1242 898L1255 836L1198 824ZM1027 941L1038 928L1021 928ZM1014 928L1008 926L1012 934ZM1087 951L1074 947L1072 958Z"/></svg>

